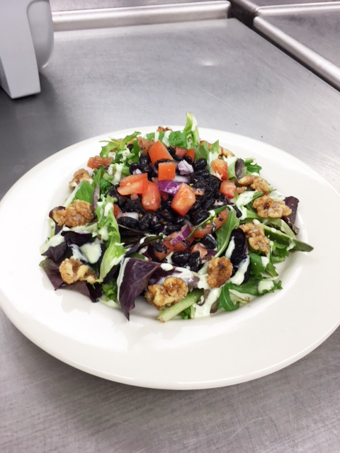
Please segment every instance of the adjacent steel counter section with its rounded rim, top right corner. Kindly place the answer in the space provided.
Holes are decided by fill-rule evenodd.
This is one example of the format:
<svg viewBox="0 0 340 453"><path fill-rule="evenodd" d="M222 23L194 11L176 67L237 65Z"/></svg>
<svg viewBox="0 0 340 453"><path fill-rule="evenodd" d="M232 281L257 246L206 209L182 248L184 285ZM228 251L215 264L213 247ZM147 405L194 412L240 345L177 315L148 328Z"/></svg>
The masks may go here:
<svg viewBox="0 0 340 453"><path fill-rule="evenodd" d="M332 12L254 18L256 30L340 89L339 27L340 6Z"/></svg>

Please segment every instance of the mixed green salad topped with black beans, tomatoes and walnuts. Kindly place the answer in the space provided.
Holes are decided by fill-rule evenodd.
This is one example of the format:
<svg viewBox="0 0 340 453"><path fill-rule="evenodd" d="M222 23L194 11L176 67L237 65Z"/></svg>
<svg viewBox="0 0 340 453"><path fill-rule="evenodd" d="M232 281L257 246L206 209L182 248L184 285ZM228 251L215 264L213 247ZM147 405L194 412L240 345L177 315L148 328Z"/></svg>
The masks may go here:
<svg viewBox="0 0 340 453"><path fill-rule="evenodd" d="M281 289L276 264L291 252L312 251L296 237L299 200L260 171L201 140L192 113L183 130L108 139L51 210L40 266L55 289L127 319L138 296L162 322L236 310Z"/></svg>

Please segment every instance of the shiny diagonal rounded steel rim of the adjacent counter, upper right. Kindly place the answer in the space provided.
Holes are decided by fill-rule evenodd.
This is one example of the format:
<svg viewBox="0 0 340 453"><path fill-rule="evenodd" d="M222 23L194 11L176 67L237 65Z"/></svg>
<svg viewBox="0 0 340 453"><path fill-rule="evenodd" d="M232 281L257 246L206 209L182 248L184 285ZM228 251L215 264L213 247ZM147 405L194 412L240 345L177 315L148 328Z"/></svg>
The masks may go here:
<svg viewBox="0 0 340 453"><path fill-rule="evenodd" d="M333 86L340 89L340 68L329 62L328 59L325 59L317 52L314 52L314 50L310 50L309 47L291 38L275 25L271 25L265 18L259 16L254 18L254 28L261 31L267 38L271 38L280 47L283 47L283 49L294 55L300 62L306 64L307 67L310 67L319 76L322 76Z"/></svg>

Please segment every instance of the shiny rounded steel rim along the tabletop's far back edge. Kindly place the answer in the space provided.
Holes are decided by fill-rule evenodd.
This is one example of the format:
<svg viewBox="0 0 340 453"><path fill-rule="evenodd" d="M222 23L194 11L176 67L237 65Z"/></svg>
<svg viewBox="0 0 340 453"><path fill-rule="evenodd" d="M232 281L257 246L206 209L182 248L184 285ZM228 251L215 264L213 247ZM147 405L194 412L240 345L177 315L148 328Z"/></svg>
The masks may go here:
<svg viewBox="0 0 340 453"><path fill-rule="evenodd" d="M201 1L199 3L137 6L135 8L58 11L52 13L52 17L56 31L84 30L227 18L229 8L229 1Z"/></svg>

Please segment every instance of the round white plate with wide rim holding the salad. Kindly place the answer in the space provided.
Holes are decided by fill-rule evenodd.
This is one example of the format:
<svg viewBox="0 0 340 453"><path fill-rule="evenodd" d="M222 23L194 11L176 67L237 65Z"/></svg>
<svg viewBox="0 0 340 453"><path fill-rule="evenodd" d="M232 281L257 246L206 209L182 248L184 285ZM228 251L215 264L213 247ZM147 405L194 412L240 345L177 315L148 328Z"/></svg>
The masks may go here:
<svg viewBox="0 0 340 453"><path fill-rule="evenodd" d="M181 127L174 127L181 129ZM152 132L156 127L142 127ZM0 303L13 324L40 348L96 376L158 389L206 389L249 381L277 371L316 348L339 326L339 195L310 167L279 149L227 132L200 136L240 157L255 157L262 176L300 199L299 238L312 253L294 253L283 265L282 291L207 319L157 321L144 302L130 322L117 309L52 289L39 268L46 218L62 204L68 182L99 140L64 149L26 173L0 203ZM331 222L329 222L331 219Z"/></svg>

